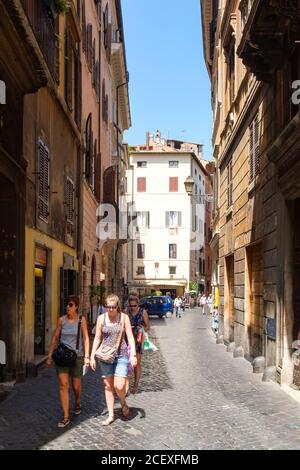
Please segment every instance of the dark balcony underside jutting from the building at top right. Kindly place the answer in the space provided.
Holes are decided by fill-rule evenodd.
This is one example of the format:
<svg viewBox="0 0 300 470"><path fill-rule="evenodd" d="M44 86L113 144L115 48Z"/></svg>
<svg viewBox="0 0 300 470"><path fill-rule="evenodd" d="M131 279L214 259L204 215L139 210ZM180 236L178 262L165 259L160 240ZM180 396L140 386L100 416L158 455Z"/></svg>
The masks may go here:
<svg viewBox="0 0 300 470"><path fill-rule="evenodd" d="M258 80L270 82L299 32L300 11L294 0L243 0L242 37L238 56Z"/></svg>

